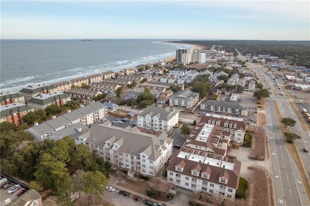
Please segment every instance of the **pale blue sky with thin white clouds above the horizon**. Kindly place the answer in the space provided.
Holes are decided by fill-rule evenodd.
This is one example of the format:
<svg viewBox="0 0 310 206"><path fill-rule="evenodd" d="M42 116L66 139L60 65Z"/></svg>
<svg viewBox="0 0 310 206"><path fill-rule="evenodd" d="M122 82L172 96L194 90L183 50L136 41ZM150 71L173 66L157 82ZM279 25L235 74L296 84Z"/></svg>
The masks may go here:
<svg viewBox="0 0 310 206"><path fill-rule="evenodd" d="M310 40L309 0L1 0L1 39Z"/></svg>

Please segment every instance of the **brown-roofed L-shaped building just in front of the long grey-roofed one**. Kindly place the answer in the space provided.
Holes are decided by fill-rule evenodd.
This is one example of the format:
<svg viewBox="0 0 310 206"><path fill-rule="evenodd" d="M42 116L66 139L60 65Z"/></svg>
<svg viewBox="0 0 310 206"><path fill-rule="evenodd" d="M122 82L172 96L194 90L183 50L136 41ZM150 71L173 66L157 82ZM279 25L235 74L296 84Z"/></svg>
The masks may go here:
<svg viewBox="0 0 310 206"><path fill-rule="evenodd" d="M200 123L217 125L223 131L231 132L231 142L243 145L244 136L247 132L246 118L206 113L202 116Z"/></svg>

